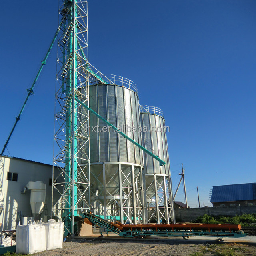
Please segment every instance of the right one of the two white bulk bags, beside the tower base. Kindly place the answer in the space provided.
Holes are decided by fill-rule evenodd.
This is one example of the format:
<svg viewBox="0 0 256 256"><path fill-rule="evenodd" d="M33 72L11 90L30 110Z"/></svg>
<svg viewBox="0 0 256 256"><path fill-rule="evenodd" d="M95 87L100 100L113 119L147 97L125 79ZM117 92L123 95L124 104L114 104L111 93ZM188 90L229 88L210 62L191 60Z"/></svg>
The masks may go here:
<svg viewBox="0 0 256 256"><path fill-rule="evenodd" d="M48 220L44 224L46 230L46 250L62 248L64 224L56 220Z"/></svg>

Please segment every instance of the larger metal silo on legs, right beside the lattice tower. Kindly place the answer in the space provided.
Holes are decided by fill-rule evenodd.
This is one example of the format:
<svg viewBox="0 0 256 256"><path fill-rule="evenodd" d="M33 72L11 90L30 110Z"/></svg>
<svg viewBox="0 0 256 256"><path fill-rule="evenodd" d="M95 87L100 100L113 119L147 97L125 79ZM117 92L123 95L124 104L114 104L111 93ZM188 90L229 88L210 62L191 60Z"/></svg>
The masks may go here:
<svg viewBox="0 0 256 256"><path fill-rule="evenodd" d="M89 87L90 108L142 144L136 85L113 76L114 84ZM144 223L142 151L90 115L90 186L92 212L122 223Z"/></svg>

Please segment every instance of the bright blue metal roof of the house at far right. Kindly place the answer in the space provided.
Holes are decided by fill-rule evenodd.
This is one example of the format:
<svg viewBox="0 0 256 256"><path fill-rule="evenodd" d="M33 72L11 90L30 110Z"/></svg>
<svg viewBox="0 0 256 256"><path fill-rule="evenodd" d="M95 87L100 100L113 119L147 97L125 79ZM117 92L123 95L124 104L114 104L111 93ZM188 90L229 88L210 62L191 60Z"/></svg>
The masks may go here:
<svg viewBox="0 0 256 256"><path fill-rule="evenodd" d="M256 200L256 183L213 186L211 203Z"/></svg>

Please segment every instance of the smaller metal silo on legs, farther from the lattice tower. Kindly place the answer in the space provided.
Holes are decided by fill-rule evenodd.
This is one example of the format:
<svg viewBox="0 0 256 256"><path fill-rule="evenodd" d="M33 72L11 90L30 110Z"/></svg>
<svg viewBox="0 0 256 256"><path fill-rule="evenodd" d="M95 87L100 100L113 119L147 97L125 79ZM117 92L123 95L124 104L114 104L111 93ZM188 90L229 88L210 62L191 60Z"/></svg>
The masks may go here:
<svg viewBox="0 0 256 256"><path fill-rule="evenodd" d="M165 120L162 110L156 107L140 106L140 122L143 128L142 144L159 156L165 165L144 153L145 199L148 222L170 223L174 220L172 183L166 138Z"/></svg>

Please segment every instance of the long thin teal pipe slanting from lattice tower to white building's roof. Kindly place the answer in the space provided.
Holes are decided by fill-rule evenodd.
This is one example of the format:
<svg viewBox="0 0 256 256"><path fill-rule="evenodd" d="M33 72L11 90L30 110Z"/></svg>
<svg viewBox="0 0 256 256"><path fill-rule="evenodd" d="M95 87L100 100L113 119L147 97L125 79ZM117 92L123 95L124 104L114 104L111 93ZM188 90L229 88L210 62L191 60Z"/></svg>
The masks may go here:
<svg viewBox="0 0 256 256"><path fill-rule="evenodd" d="M57 38L57 36L58 36L58 32L59 32L59 31L60 31L60 26L58 27L58 29L57 29L57 31L56 31L56 33L55 33L55 35L54 35L54 38L53 38L53 40L52 40L52 42L51 42L51 44L50 44L50 47L49 47L49 49L48 49L48 51L47 51L45 57L44 57L44 60L41 61L40 69L38 70L38 72L37 72L37 74L36 74L36 78L35 78L35 80L34 80L32 86L31 86L29 89L27 89L28 95L27 95L27 97L26 97L26 100L24 101L24 103L23 103L23 105L22 105L22 108L21 108L21 110L20 110L19 115L16 116L16 121L15 121L15 123L14 123L14 126L12 127L12 130L11 130L11 132L10 132L10 134L9 134L9 136L8 136L8 138L7 138L6 142L5 142L5 144L4 144L4 148L2 149L2 152L1 152L0 155L3 155L3 154L4 154L4 150L6 149L8 143L9 143L9 140L10 140L10 138L11 138L13 132L14 132L14 129L15 129L15 127L16 127L18 121L20 121L20 116L21 116L21 114L22 114L22 112L23 112L23 110L24 110L24 108L25 108L25 106L26 106L26 104L27 104L27 102L28 102L29 96L32 95L32 94L34 94L34 92L33 92L34 86L35 86L35 84L36 84L36 81L38 80L39 75L40 75L41 72L42 72L42 69L43 69L44 65L46 64L46 60L47 60L47 58L48 58L48 56L49 56L49 54L50 54L50 51L52 50L52 46L54 45L54 42L55 42L55 40L56 40L56 38Z"/></svg>

